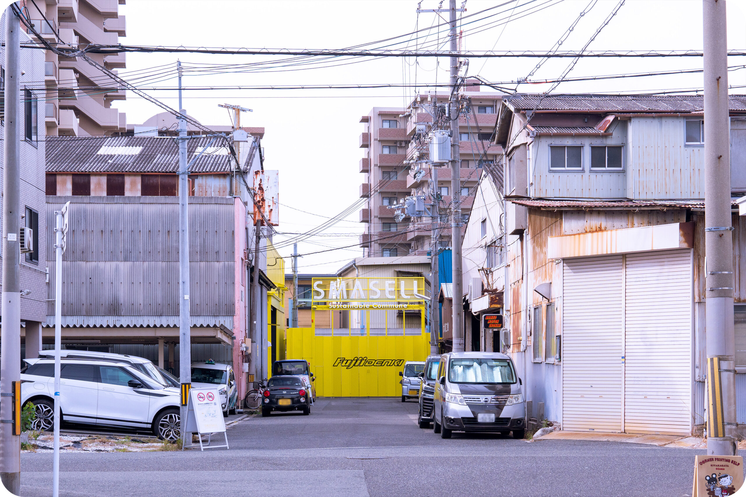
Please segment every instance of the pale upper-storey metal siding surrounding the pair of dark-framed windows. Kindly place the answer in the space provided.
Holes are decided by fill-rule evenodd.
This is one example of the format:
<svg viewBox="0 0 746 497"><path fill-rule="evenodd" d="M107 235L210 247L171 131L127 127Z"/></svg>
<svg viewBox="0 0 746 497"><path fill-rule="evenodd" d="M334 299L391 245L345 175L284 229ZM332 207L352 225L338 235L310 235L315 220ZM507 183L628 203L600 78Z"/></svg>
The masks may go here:
<svg viewBox="0 0 746 497"><path fill-rule="evenodd" d="M531 147L532 197L624 198L624 171L591 171L589 145L624 145L628 162L627 121L612 124L612 136L537 136ZM583 171L550 171L550 145L583 145ZM626 166L626 164L625 164Z"/></svg>

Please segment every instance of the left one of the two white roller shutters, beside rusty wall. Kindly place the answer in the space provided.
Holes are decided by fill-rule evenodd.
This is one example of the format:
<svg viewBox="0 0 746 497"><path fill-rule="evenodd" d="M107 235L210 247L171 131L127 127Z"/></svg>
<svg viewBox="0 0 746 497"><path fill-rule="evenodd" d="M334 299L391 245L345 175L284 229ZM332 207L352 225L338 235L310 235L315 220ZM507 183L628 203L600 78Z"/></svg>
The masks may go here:
<svg viewBox="0 0 746 497"><path fill-rule="evenodd" d="M565 261L562 428L621 431L621 256Z"/></svg>

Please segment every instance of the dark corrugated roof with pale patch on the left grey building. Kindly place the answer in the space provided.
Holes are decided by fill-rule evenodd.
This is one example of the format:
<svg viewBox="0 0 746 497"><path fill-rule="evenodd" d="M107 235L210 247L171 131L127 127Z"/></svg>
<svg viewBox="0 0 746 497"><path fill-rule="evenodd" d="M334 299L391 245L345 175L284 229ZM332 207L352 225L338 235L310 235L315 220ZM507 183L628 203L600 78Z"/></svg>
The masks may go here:
<svg viewBox="0 0 746 497"><path fill-rule="evenodd" d="M189 167L190 172L231 171L232 159L228 148L223 146L225 141L212 142L210 137L189 139L186 145L189 160L207 148ZM48 136L46 139L48 173L176 173L178 162L178 142L169 136Z"/></svg>

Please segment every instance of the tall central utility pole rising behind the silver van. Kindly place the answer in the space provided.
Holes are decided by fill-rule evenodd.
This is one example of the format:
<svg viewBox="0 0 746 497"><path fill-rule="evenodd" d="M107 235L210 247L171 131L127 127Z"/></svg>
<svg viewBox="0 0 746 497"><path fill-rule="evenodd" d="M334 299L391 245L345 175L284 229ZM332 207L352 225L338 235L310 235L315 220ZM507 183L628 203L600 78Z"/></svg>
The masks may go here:
<svg viewBox="0 0 746 497"><path fill-rule="evenodd" d="M456 0L448 1L450 24L451 24L451 53L457 51L456 38ZM451 118L451 203L453 206L453 218L451 219L451 243L453 248L451 265L454 268L453 277L453 333L454 352L464 351L464 326L463 326L463 291L461 289L461 160L459 156L459 92L456 83L459 80L459 58L451 57L451 101L448 104Z"/></svg>

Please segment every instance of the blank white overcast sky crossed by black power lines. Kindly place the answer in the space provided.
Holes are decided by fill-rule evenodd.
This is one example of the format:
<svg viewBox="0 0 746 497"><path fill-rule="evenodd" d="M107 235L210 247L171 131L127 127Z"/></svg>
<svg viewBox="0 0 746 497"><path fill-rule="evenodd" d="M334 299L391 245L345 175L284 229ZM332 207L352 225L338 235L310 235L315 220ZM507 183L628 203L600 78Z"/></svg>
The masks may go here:
<svg viewBox="0 0 746 497"><path fill-rule="evenodd" d="M459 0L457 4L460 4ZM546 51L557 42L577 18L589 0L516 0L504 7L466 19L472 21L499 13L489 21L513 18L507 24L495 22L484 31L470 34L468 29L487 21L464 26L466 50ZM721 0L723 1L723 0ZM502 1L468 0L466 16L494 7ZM562 45L564 50L581 48L617 0L599 0ZM436 8L438 1L423 0L422 8ZM513 10L515 5L518 7ZM444 6L448 0L444 1ZM418 26L417 1L413 0L128 0L119 6L127 16L126 38L131 45L185 45L246 48L345 48L360 43L408 34ZM531 13L515 19L522 10ZM746 49L746 0L728 0L728 48ZM503 12L503 13L501 13ZM437 14L419 14L419 28L443 22ZM447 14L441 14L443 16ZM447 34L433 30L427 39ZM424 34L421 34L424 36ZM404 45L399 45L402 48ZM415 48L413 42L409 48ZM440 48L443 48L442 45ZM627 0L618 14L589 46L589 50L696 50L702 48L702 2L700 0ZM249 64L280 57L207 54L128 54L127 69L120 74L138 86L175 86L175 63ZM481 75L491 81L512 81L525 77L536 59L473 59L468 75ZM570 59L548 61L534 78L552 78L562 74ZM172 64L156 70L157 76L137 80L137 73L154 66ZM731 57L730 66L746 65L746 57ZM365 60L325 69L282 72L186 72L184 86L277 85L339 83L418 83L448 80L448 60L400 58ZM581 59L569 77L650 72L666 69L701 67L698 57ZM288 69L288 68L286 68ZM128 77L128 73L134 72ZM746 86L746 69L730 72L731 85ZM645 92L648 90L695 88L702 86L702 75L668 75L562 83L557 92ZM548 85L521 85L518 91L540 92ZM425 89L427 91L427 89ZM364 149L357 148L363 132L360 116L371 107L402 106L413 89L312 89L312 90L210 90L184 92L184 107L204 124L231 124L228 111L218 104L238 104L253 113L244 113L243 126L266 128L263 146L265 168L280 171L279 232L299 233L317 226L358 200L363 174L357 172ZM733 89L746 93L746 88ZM177 108L175 91L148 91L150 95ZM128 92L128 100L116 103L127 113L128 123L140 124L158 112L153 104ZM301 209L311 214L305 214ZM298 253L312 253L329 247L356 244L364 224L357 222L359 209L345 221L327 229L325 235L298 245ZM283 237L275 238L278 244ZM283 256L292 247L280 250ZM299 259L301 273L333 273L350 259L361 256L362 249L343 250L305 256ZM286 259L286 272L290 259Z"/></svg>

